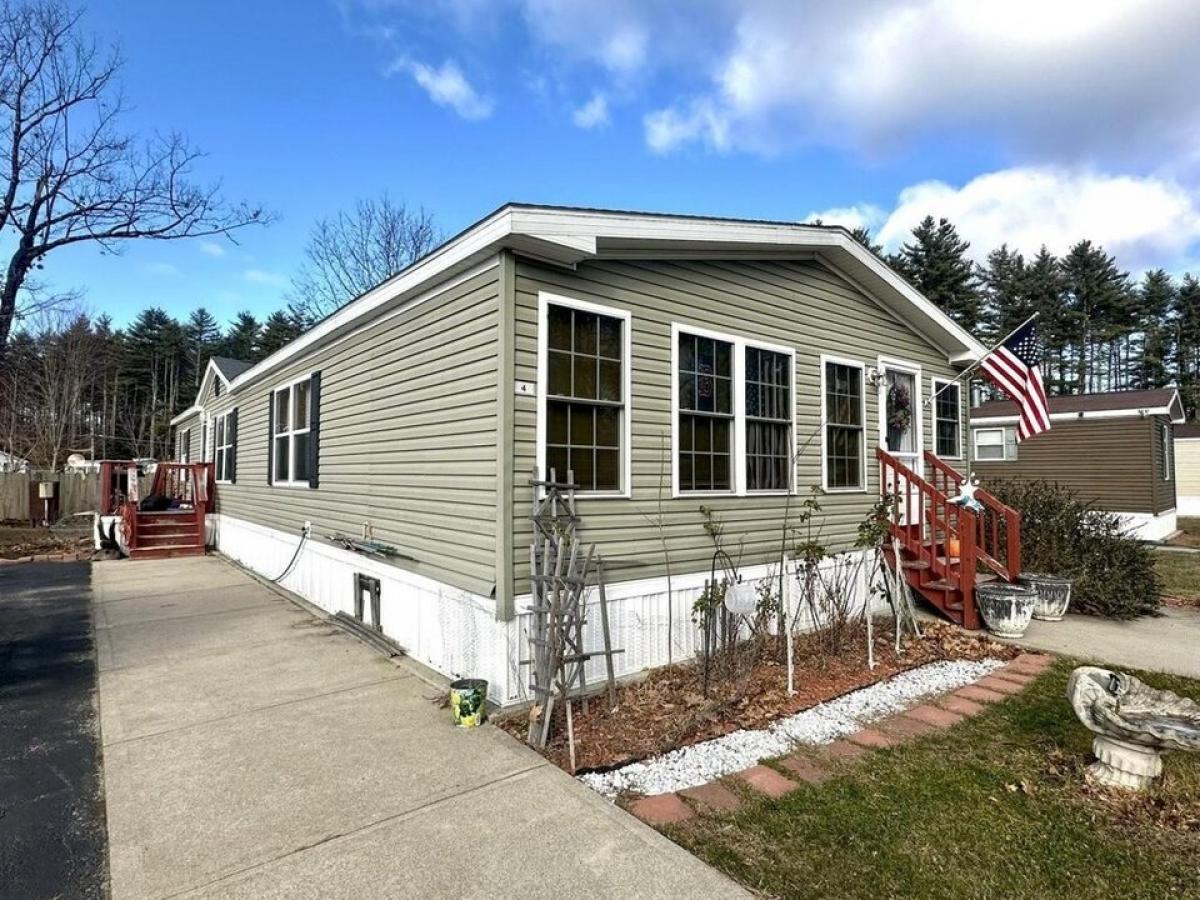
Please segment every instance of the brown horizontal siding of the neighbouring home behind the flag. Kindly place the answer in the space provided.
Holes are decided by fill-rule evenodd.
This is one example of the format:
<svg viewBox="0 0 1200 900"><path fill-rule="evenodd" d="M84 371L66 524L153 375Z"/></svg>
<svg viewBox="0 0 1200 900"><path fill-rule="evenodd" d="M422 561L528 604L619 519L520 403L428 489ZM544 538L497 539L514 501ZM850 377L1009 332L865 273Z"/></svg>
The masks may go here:
<svg viewBox="0 0 1200 900"><path fill-rule="evenodd" d="M1159 461L1162 418L1054 421L1048 432L1018 448L1012 462L977 461L986 487L1006 478L1044 479L1067 485L1085 500L1114 512L1163 512L1175 506L1175 481L1163 481ZM988 427L973 422L973 427Z"/></svg>

